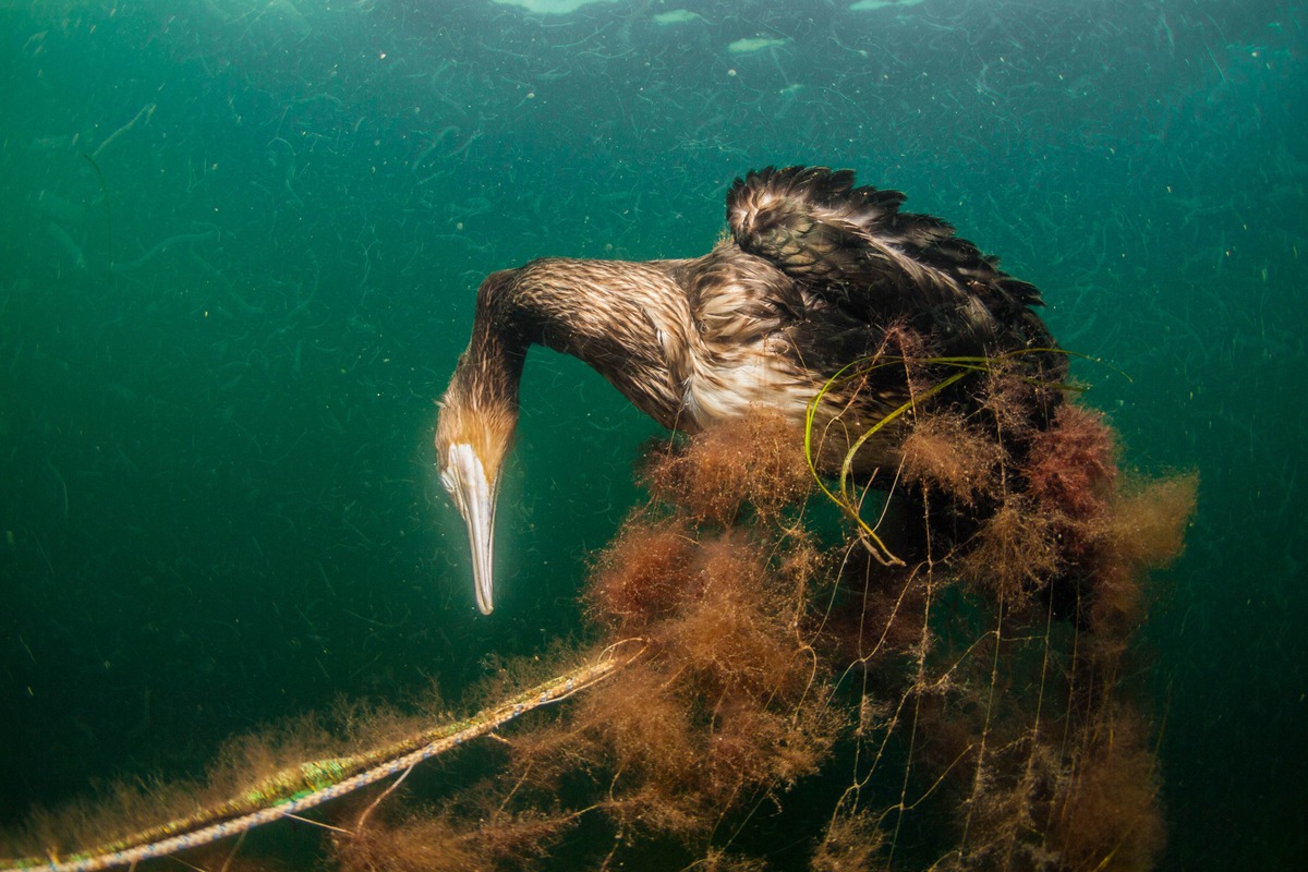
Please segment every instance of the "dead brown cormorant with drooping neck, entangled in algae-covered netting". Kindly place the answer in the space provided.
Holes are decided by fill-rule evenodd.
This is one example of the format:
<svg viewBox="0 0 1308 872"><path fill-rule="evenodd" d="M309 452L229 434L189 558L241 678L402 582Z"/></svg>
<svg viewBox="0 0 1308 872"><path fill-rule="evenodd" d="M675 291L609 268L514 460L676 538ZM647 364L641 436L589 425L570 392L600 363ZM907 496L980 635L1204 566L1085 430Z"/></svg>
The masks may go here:
<svg viewBox="0 0 1308 872"><path fill-rule="evenodd" d="M1057 378L1066 363L1033 311L1039 290L946 221L903 210L905 199L855 184L852 170L768 166L730 186L727 233L702 256L542 258L488 276L436 426L480 612L493 609L496 502L532 345L581 358L636 408L688 434L755 408L802 424L832 377L884 354L896 329L942 357L1029 352ZM908 391L903 367L888 366L829 404L852 435L825 450L825 467ZM892 452L886 433L869 463Z"/></svg>

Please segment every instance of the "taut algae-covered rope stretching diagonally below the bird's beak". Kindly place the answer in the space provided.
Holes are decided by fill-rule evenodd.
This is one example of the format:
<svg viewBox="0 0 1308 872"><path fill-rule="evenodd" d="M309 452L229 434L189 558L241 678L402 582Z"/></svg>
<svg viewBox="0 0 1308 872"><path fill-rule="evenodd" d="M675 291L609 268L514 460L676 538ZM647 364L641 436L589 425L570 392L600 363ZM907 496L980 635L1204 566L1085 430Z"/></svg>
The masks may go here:
<svg viewBox="0 0 1308 872"><path fill-rule="evenodd" d="M638 639L606 648L596 659L553 677L477 714L391 743L373 752L301 763L272 775L246 794L194 814L133 833L67 858L0 860L0 872L97 872L169 856L347 796L391 775L403 779L413 766L484 736L540 706L559 702L603 681L637 659L644 647L619 655Z"/></svg>

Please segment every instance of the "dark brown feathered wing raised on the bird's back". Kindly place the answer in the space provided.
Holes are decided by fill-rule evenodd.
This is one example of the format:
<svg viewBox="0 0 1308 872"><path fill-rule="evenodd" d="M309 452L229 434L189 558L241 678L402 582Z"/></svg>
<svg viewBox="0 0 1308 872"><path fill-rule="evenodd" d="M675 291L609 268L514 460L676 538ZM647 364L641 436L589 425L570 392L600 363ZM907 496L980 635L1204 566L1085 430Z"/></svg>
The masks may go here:
<svg viewBox="0 0 1308 872"><path fill-rule="evenodd" d="M906 318L956 348L1048 340L1035 286L904 199L849 170L766 167L731 186L727 221L740 248L866 323Z"/></svg>

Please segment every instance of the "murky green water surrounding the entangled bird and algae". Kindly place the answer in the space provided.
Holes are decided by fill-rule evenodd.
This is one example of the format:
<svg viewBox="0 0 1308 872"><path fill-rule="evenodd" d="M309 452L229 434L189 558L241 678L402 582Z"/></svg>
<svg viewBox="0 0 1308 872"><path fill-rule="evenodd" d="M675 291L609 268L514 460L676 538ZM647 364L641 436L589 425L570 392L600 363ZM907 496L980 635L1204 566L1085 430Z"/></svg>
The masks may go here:
<svg viewBox="0 0 1308 872"><path fill-rule="evenodd" d="M565 9L566 7L577 7ZM1164 868L1308 858L1303 3L0 3L0 826L581 631L658 428L538 350L473 607L432 431L481 278L855 169L1197 469L1142 676ZM1129 378L1126 378L1129 377Z"/></svg>

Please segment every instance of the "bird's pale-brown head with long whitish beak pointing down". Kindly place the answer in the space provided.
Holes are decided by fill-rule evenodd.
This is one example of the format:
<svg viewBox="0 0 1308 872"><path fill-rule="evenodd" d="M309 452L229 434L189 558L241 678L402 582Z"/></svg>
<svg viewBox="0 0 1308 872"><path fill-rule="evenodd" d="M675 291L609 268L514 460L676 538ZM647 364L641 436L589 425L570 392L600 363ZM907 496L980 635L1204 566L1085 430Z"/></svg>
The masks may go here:
<svg viewBox="0 0 1308 872"><path fill-rule="evenodd" d="M488 391L475 373L460 366L441 400L436 425L436 451L441 484L463 515L472 545L472 580L477 608L494 608L494 507L500 472L518 426L515 397Z"/></svg>

